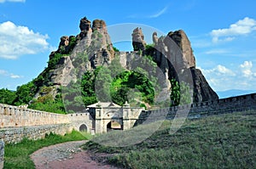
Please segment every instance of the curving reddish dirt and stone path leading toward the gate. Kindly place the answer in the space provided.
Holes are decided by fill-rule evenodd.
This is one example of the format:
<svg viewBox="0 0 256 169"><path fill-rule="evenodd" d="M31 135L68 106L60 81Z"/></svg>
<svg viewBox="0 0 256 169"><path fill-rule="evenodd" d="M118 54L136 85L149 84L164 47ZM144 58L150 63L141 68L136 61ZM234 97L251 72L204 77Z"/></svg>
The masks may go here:
<svg viewBox="0 0 256 169"><path fill-rule="evenodd" d="M116 167L100 164L79 147L86 141L55 144L38 149L31 155L37 169L105 169Z"/></svg>

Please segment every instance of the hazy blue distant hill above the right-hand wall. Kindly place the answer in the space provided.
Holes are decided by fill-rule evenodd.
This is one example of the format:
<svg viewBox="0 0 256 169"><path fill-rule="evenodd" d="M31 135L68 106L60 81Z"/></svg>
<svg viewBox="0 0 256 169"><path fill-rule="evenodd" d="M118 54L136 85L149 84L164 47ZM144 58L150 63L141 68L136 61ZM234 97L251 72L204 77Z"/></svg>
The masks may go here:
<svg viewBox="0 0 256 169"><path fill-rule="evenodd" d="M224 99L224 98L239 96L243 94L256 93L256 91L232 89L232 90L226 90L226 91L218 91L216 93L218 94L219 99Z"/></svg>

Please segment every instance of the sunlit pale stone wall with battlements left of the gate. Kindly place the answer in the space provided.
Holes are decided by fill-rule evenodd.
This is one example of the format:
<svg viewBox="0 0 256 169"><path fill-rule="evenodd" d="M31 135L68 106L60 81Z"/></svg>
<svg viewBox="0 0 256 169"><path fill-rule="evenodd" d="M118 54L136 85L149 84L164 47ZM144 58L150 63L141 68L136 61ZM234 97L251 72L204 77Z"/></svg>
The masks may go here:
<svg viewBox="0 0 256 169"><path fill-rule="evenodd" d="M4 143L17 144L23 138L40 139L50 132L64 135L85 124L90 132L90 115L60 115L0 104L0 169L3 168Z"/></svg>

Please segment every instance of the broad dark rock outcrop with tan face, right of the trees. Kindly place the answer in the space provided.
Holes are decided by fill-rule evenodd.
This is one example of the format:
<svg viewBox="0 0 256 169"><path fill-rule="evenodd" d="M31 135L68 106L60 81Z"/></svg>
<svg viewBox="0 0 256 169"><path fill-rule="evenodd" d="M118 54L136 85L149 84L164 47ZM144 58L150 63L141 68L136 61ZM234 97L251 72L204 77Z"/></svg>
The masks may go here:
<svg viewBox="0 0 256 169"><path fill-rule="evenodd" d="M186 78L192 76L194 102L217 100L218 95L209 86L201 70L195 69L195 56L184 31L169 32L166 37L157 37L153 33L154 60L165 73L166 78ZM188 79L186 79L188 81Z"/></svg>

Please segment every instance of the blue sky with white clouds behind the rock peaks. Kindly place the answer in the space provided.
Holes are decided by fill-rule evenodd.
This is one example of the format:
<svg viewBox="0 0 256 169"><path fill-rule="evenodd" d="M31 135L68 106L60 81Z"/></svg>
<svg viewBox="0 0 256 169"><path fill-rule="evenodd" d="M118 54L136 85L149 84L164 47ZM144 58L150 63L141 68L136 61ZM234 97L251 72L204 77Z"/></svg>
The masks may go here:
<svg viewBox="0 0 256 169"><path fill-rule="evenodd" d="M0 88L15 90L36 78L60 38L79 34L79 20L86 16L105 20L113 39L113 25L147 25L164 34L182 29L213 90L256 92L255 7L255 0L0 0Z"/></svg>

